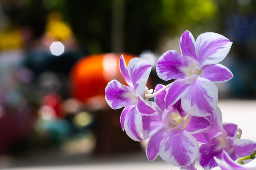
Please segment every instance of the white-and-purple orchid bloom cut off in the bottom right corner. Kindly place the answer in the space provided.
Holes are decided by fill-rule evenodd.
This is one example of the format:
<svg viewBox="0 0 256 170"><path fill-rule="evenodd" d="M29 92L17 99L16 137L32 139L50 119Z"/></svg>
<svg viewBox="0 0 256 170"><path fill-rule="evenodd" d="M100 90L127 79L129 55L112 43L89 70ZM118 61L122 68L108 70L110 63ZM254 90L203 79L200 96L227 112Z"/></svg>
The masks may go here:
<svg viewBox="0 0 256 170"><path fill-rule="evenodd" d="M218 164L218 167L211 170L256 170L256 159L253 159L249 163L244 165L234 161L227 152L223 153L223 160L214 157Z"/></svg>

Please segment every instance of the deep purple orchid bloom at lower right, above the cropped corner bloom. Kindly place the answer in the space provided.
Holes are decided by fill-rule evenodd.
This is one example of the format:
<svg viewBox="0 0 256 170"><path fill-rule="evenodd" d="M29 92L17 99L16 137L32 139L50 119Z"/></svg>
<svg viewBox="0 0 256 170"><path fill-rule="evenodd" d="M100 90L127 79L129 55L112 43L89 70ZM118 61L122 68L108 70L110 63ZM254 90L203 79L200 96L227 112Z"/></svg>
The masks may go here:
<svg viewBox="0 0 256 170"><path fill-rule="evenodd" d="M240 139L241 131L236 124L222 124L222 115L219 108L207 117L212 126L193 135L198 141L205 142L199 148L199 163L205 170L217 166L214 157L221 159L223 152L236 160L252 154L256 143L247 139Z"/></svg>

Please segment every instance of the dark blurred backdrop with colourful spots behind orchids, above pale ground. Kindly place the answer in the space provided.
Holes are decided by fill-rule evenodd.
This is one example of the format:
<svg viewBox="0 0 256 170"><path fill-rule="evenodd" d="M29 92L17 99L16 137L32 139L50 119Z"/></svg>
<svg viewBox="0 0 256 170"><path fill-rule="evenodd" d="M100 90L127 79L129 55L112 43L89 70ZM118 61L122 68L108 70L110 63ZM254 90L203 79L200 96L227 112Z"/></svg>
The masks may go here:
<svg viewBox="0 0 256 170"><path fill-rule="evenodd" d="M222 64L234 78L218 84L219 98L255 99L256 0L0 0L0 167L140 152L121 130L121 110L107 106L105 87L124 82L120 54L152 64L149 87L167 84L155 64L180 51L186 29L233 42ZM58 56L50 51L56 41L65 47Z"/></svg>

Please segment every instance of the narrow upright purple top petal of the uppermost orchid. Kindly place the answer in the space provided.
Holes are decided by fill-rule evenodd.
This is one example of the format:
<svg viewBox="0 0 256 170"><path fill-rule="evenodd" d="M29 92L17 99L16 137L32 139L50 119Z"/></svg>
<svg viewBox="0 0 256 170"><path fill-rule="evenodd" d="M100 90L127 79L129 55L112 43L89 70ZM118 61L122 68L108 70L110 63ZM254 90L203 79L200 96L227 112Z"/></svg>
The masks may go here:
<svg viewBox="0 0 256 170"><path fill-rule="evenodd" d="M189 56L194 61L198 62L198 58L195 54L195 38L188 30L180 37L180 51L182 55Z"/></svg>

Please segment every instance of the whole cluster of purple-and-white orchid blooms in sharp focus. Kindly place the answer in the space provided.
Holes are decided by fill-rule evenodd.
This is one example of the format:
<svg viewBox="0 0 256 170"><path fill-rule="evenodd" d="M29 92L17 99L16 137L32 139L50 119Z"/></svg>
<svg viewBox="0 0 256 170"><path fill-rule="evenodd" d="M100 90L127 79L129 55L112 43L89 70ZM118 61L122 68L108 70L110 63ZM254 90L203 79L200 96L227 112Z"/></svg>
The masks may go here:
<svg viewBox="0 0 256 170"><path fill-rule="evenodd" d="M146 156L160 156L181 170L196 170L195 161L205 170L256 169L256 143L240 139L241 130L233 123L222 123L216 83L233 77L219 64L229 53L232 42L218 33L202 33L195 40L189 31L180 38L179 54L164 53L156 72L168 85L148 89L151 65L141 58L128 66L121 55L119 68L128 86L117 80L108 83L105 98L112 109L124 108L121 128L135 141L148 139ZM244 159L245 158L245 159Z"/></svg>

